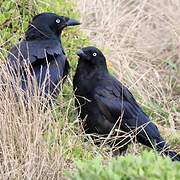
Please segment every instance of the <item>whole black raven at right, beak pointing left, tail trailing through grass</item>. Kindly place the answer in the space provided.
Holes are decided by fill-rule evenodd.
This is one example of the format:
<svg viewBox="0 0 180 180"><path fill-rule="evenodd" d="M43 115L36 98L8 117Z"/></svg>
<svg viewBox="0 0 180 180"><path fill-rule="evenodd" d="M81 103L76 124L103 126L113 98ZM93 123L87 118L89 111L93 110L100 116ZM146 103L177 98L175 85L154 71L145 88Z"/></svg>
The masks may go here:
<svg viewBox="0 0 180 180"><path fill-rule="evenodd" d="M108 144L114 143L120 152L126 150L135 137L138 142L180 161L180 156L170 149L131 92L109 74L102 52L95 47L85 47L77 51L77 55L79 62L73 88L85 132L103 137L111 133L111 137L116 138Z"/></svg>

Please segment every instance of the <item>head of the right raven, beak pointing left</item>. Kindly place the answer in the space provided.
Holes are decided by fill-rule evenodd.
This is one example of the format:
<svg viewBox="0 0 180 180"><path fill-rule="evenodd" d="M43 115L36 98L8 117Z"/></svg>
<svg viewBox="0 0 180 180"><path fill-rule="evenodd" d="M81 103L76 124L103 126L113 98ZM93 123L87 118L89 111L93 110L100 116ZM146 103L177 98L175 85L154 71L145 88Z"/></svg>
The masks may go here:
<svg viewBox="0 0 180 180"><path fill-rule="evenodd" d="M82 62L89 65L107 68L106 59L103 53L96 47L85 47L77 51L76 54L79 56L79 63Z"/></svg>

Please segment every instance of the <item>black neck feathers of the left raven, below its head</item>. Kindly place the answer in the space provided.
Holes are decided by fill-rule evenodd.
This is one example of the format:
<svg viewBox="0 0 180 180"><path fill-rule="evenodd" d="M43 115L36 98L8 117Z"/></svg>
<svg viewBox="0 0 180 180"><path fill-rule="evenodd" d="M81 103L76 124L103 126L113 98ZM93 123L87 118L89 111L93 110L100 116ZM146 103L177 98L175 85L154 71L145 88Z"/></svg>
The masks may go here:
<svg viewBox="0 0 180 180"><path fill-rule="evenodd" d="M29 25L28 30L25 33L25 40L48 40L48 39L58 39L60 40L60 36L57 36L52 32L52 30L48 27L35 27L32 24Z"/></svg>

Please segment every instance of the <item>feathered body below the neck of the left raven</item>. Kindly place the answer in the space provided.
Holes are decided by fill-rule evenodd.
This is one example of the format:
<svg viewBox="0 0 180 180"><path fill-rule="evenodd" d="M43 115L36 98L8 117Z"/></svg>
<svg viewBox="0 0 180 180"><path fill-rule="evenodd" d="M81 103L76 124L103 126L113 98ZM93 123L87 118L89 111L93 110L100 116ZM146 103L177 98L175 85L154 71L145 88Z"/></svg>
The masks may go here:
<svg viewBox="0 0 180 180"><path fill-rule="evenodd" d="M33 80L29 82L26 75L26 67L30 65L41 93L50 93L53 97L59 94L69 72L69 63L58 40L23 41L10 50L8 62L8 68L13 67L9 70L15 79L16 70L20 72L23 90L33 87Z"/></svg>

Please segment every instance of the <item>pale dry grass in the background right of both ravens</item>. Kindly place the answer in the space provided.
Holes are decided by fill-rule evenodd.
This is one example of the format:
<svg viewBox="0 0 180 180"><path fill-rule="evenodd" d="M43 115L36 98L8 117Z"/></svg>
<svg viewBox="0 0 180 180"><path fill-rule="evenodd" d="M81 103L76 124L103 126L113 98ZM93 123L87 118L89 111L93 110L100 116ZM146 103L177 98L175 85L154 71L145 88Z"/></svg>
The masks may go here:
<svg viewBox="0 0 180 180"><path fill-rule="evenodd" d="M118 79L161 119L166 135L180 132L178 0L77 0L83 30L108 49ZM166 114L163 116L163 114ZM179 147L180 148L180 147Z"/></svg>

